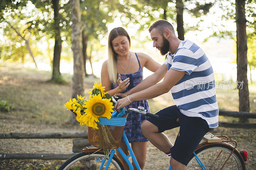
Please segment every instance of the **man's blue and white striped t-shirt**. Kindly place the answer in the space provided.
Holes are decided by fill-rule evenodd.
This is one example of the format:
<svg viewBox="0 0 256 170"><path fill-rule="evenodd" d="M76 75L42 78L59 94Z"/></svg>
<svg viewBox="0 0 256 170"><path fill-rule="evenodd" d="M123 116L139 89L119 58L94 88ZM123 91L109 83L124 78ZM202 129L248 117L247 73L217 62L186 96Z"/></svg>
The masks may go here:
<svg viewBox="0 0 256 170"><path fill-rule="evenodd" d="M201 117L209 128L218 126L219 109L215 92L212 65L202 48L185 40L174 54L164 62L168 70L186 71L171 89L172 97L181 113L190 117Z"/></svg>

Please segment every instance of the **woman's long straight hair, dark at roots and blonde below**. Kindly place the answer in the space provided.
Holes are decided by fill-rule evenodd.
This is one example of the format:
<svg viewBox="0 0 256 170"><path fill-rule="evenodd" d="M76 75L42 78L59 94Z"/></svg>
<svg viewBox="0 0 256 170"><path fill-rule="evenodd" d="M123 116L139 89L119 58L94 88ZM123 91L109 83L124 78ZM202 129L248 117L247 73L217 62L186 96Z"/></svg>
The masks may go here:
<svg viewBox="0 0 256 170"><path fill-rule="evenodd" d="M126 36L129 40L129 46L131 48L131 38L127 31L122 27L114 28L110 31L108 35L108 75L109 80L112 84L116 84L116 62L117 62L117 53L113 49L112 41L118 36L123 35Z"/></svg>

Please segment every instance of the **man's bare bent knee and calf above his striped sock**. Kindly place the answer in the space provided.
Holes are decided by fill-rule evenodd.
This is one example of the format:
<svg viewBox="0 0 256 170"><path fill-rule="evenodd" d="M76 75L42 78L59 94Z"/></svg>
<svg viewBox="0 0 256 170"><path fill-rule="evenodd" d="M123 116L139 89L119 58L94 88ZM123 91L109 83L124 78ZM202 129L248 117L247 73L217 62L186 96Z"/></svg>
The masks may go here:
<svg viewBox="0 0 256 170"><path fill-rule="evenodd" d="M143 135L156 146L160 151L166 153L170 152L170 148L173 146L169 138L164 133L159 133L158 127L153 123L144 120L140 128Z"/></svg>

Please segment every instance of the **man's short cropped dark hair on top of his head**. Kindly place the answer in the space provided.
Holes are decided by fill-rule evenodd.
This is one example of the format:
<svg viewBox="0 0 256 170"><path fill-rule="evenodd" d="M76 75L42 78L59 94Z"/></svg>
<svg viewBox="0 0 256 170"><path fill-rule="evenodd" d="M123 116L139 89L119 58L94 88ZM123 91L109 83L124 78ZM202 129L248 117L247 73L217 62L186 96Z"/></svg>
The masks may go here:
<svg viewBox="0 0 256 170"><path fill-rule="evenodd" d="M168 21L164 20L164 19L159 19L156 22L154 22L149 28L148 31L149 33L156 28L156 31L158 33L160 33L160 35L164 34L164 30L168 29L170 31L171 34L175 35L173 26L171 23L169 23Z"/></svg>

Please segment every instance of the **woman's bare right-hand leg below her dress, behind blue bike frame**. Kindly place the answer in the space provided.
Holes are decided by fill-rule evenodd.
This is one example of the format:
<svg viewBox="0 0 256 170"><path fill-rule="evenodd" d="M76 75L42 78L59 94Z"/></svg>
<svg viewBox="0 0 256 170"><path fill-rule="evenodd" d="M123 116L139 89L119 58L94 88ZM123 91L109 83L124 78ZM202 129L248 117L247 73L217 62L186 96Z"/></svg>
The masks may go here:
<svg viewBox="0 0 256 170"><path fill-rule="evenodd" d="M144 168L144 165L146 162L147 144L148 142L132 142L132 151L135 155L135 158L138 161L140 169ZM134 169L137 169L133 160L132 160L132 166L134 167Z"/></svg>

